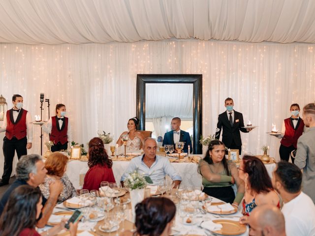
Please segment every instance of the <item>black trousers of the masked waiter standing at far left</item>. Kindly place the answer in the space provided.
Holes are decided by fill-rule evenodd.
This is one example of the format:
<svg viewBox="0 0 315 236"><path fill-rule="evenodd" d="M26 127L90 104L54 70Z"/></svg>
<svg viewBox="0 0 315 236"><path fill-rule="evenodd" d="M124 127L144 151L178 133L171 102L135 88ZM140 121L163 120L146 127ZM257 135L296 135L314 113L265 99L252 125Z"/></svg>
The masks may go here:
<svg viewBox="0 0 315 236"><path fill-rule="evenodd" d="M2 175L2 182L9 182L11 173L12 173L12 163L14 154L18 155L18 159L23 155L27 155L26 145L28 140L26 137L23 139L18 140L17 138L13 137L9 140L7 137L3 139L3 155L4 155L4 168L3 168L3 175Z"/></svg>

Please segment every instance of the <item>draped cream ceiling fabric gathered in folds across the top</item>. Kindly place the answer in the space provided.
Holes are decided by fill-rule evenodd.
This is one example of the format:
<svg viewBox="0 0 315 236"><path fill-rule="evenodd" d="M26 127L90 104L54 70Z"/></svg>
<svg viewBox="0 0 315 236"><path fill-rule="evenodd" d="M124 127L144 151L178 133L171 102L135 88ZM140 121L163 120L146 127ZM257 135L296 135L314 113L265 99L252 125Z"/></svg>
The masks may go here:
<svg viewBox="0 0 315 236"><path fill-rule="evenodd" d="M315 43L314 0L1 0L0 42Z"/></svg>

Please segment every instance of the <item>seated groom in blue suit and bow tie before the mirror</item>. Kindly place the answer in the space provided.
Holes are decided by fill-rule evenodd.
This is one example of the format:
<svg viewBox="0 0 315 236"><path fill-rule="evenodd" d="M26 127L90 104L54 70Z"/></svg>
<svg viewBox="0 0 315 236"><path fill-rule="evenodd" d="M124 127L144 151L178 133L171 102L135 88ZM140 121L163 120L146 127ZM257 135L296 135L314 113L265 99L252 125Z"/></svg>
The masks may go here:
<svg viewBox="0 0 315 236"><path fill-rule="evenodd" d="M175 143L176 142L184 142L184 152L188 152L188 146L190 147L190 153L192 152L192 146L191 146L191 140L190 135L188 132L185 132L180 129L181 126L181 119L178 117L175 117L171 121L172 131L169 131L164 134L163 139L163 147L164 145L174 145L175 149Z"/></svg>

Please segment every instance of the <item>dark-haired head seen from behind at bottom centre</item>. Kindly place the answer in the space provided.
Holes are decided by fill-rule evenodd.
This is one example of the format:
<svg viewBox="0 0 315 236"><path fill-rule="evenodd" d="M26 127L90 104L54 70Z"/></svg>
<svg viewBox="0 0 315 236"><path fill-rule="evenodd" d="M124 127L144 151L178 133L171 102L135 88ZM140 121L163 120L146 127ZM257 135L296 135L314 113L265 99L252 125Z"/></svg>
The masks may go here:
<svg viewBox="0 0 315 236"><path fill-rule="evenodd" d="M175 219L175 204L168 198L146 198L135 207L136 232L121 236L169 236Z"/></svg>

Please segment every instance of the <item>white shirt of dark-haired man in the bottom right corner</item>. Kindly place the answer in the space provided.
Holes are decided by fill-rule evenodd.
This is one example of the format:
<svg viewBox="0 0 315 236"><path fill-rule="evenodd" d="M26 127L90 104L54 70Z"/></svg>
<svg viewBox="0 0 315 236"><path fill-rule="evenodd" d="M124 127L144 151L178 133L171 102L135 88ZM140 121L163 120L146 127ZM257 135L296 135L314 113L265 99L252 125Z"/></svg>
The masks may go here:
<svg viewBox="0 0 315 236"><path fill-rule="evenodd" d="M281 209L287 236L315 236L315 206L312 199L301 192Z"/></svg>

